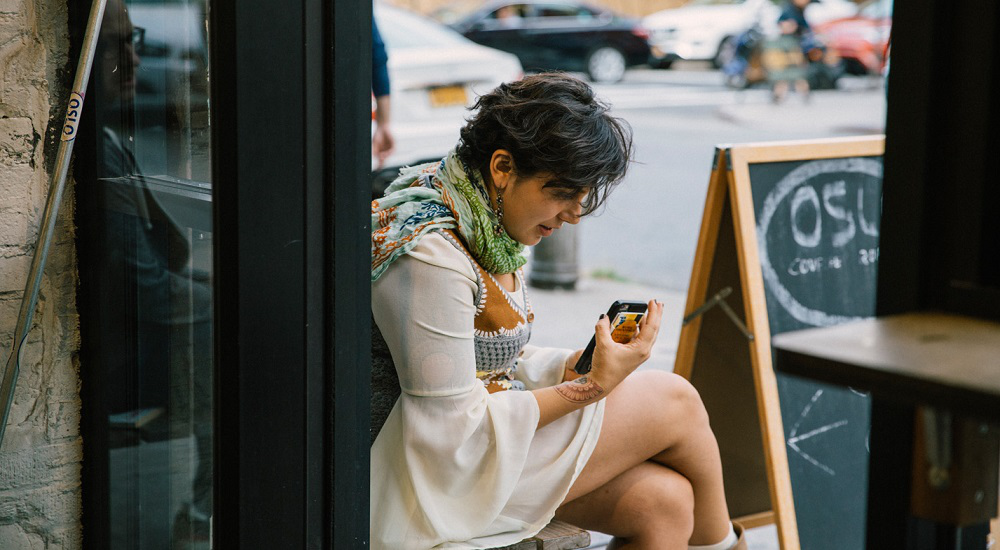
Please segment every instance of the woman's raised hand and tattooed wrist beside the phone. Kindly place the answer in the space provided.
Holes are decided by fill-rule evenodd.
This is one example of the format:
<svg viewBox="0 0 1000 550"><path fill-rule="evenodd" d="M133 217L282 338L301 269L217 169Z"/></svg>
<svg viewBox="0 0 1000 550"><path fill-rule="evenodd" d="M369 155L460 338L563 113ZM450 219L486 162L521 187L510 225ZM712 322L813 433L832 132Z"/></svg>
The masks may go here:
<svg viewBox="0 0 1000 550"><path fill-rule="evenodd" d="M660 332L663 318L663 304L650 300L646 315L639 321L639 335L627 344L619 344L611 339L611 321L602 315L595 327L594 357L588 377L605 392L610 392L639 365L649 359L653 342ZM606 395L606 393L605 393Z"/></svg>

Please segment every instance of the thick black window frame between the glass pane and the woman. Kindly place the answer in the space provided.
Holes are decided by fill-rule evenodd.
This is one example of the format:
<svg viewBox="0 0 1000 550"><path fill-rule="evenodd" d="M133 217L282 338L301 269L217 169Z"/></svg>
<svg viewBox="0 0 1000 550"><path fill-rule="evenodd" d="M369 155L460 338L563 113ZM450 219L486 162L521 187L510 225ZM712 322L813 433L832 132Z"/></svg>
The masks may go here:
<svg viewBox="0 0 1000 550"><path fill-rule="evenodd" d="M208 2L213 547L366 547L372 5ZM70 2L73 59L89 10ZM95 173L95 141L77 144L82 178ZM93 299L80 300L84 325ZM108 464L88 454L106 430L88 353L84 342L83 524L96 549L109 542Z"/></svg>

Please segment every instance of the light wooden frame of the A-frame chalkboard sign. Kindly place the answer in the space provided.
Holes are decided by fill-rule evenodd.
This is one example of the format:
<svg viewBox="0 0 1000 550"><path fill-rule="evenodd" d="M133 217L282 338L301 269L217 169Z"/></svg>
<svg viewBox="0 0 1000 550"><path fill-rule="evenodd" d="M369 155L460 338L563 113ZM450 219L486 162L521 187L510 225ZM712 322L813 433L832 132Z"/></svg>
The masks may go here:
<svg viewBox="0 0 1000 550"><path fill-rule="evenodd" d="M685 317L692 315L710 299L710 281L718 285L720 272L731 269L735 260L739 277L733 281L737 286L735 297L742 297L743 322L752 337L734 336L748 345L748 359L736 361L735 368L746 368L749 364L752 370L753 401L757 409L757 426L752 424L752 414L739 414L746 411L720 411L722 414L712 415L713 429L719 438L720 450L725 452L727 446L745 445L747 438L741 437L740 442L727 441L723 435L750 429L755 433L751 441L762 445L762 457L757 464L765 470L769 489L770 510L758 510L737 518L748 527L774 523L778 531L778 541L782 550L799 550L798 526L795 517L794 500L792 496L791 478L789 475L788 455L785 449L785 432L782 425L781 408L778 395L778 384L774 373L771 353L771 331L767 312L765 287L761 269L757 243L757 221L754 212L754 201L750 182L750 166L757 163L837 159L851 157L882 156L885 151L885 136L872 135L861 137L831 138L808 141L748 143L738 145L720 145L713 157L713 169L705 200L705 210L702 218L695 260L688 287L688 297L685 306ZM729 222L731 224L723 223ZM720 228L726 226L734 232L734 241L728 235L720 236ZM735 245L735 246L734 246ZM735 249L735 250L734 250ZM735 255L735 258L733 257ZM724 278L723 278L724 279ZM734 308L737 311L739 308ZM732 372L724 372L723 365L705 364L698 361L699 344L706 340L707 334L701 332L701 327L709 314L694 317L681 329L677 358L674 372L684 376L694 383L706 403L709 402L746 402L748 396L734 396L738 388L749 392L749 384L725 384L722 389L717 383L733 377ZM729 322L729 321L726 321ZM718 325L716 325L718 326ZM733 331L733 334L738 332ZM713 342L718 348L718 343ZM728 346L727 346L728 347ZM732 346L738 348L738 346ZM703 354L704 355L704 354ZM699 371L695 371L698 365ZM730 367L733 368L733 367ZM712 370L713 376L708 377L712 383L706 384L706 377L699 381L701 370ZM746 373L737 373L745 376ZM720 376L721 375L721 376ZM713 393L725 392L725 399L713 399ZM740 399L743 397L744 399ZM707 406L707 405L706 405ZM722 435L720 435L722 434ZM728 436L727 436L728 437ZM741 451L745 452L745 450ZM750 466L753 467L752 465ZM727 496L734 490L727 485ZM732 498L730 497L730 500Z"/></svg>

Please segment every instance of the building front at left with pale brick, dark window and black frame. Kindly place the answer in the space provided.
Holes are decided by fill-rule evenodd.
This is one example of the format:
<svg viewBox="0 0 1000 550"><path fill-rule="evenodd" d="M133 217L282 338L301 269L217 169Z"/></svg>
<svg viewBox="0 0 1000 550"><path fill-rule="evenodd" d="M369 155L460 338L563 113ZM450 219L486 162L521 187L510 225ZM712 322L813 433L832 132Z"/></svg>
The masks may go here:
<svg viewBox="0 0 1000 550"><path fill-rule="evenodd" d="M368 179L369 6L107 1L0 446L0 548L367 537L369 190L337 182ZM0 1L5 351L91 8Z"/></svg>

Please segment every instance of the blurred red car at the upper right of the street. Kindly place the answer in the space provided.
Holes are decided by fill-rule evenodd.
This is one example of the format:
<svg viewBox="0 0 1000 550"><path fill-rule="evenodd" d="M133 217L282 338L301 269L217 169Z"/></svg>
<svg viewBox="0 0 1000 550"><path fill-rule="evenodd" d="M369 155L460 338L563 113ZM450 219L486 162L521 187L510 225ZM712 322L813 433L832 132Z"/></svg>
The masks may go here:
<svg viewBox="0 0 1000 550"><path fill-rule="evenodd" d="M854 17L817 25L815 31L844 60L849 74L879 75L888 59L892 0L868 0L859 8Z"/></svg>

